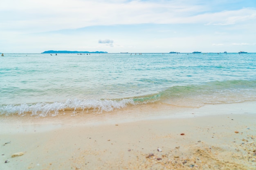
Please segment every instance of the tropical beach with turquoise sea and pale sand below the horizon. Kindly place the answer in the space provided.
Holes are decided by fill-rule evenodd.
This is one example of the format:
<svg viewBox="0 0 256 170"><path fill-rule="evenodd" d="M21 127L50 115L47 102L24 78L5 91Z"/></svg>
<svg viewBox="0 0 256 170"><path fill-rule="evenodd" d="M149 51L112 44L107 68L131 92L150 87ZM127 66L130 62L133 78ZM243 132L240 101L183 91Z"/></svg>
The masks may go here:
<svg viewBox="0 0 256 170"><path fill-rule="evenodd" d="M254 169L254 61L255 53L6 54L0 167Z"/></svg>

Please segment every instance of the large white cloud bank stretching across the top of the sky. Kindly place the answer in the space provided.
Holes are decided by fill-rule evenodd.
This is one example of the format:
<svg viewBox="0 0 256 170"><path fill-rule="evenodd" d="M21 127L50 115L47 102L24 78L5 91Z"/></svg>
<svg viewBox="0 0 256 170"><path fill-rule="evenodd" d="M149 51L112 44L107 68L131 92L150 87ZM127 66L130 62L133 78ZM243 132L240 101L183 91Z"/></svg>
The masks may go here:
<svg viewBox="0 0 256 170"><path fill-rule="evenodd" d="M8 0L1 4L2 29L54 31L113 24L234 24L252 20L255 9L207 13L200 1L182 0ZM13 12L12 12L13 11Z"/></svg>

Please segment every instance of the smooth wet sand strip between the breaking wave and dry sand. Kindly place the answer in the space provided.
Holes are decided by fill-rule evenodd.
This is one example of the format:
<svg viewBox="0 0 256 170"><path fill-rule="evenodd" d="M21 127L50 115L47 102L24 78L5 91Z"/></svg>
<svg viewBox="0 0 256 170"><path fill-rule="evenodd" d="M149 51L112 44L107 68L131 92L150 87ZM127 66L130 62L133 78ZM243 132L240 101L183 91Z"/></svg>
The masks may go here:
<svg viewBox="0 0 256 170"><path fill-rule="evenodd" d="M46 117L41 117L38 115L31 116L32 113L27 113L26 115L14 114L7 116L3 114L0 115L0 121L2 126L12 126L13 124L20 124L20 126L43 126L45 124L47 124L47 126L101 126L115 123L131 123L143 120L183 119L243 113L254 114L256 113L255 110L256 101L227 104L205 104L204 106L198 108L179 107L156 102L150 105L135 105L132 107L124 107L122 109L114 109L113 111L103 113L87 113L86 111L82 110L77 110L74 113L74 110L70 109L67 111L59 111L58 115L56 116ZM10 131L8 131L8 133L10 133Z"/></svg>

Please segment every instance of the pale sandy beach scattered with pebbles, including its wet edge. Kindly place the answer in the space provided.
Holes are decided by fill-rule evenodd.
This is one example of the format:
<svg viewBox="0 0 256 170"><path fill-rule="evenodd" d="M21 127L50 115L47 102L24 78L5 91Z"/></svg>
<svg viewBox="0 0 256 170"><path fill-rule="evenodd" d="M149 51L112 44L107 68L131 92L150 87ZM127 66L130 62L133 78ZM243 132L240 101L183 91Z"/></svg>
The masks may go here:
<svg viewBox="0 0 256 170"><path fill-rule="evenodd" d="M152 113L129 120L121 113L1 116L0 169L256 168L256 102Z"/></svg>

